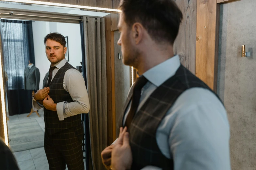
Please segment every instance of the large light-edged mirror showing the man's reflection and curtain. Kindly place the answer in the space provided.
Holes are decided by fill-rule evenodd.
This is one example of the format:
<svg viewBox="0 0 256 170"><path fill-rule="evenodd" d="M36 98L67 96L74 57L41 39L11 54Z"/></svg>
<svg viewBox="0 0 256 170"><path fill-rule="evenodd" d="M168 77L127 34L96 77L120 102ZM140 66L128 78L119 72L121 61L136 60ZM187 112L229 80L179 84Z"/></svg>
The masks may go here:
<svg viewBox="0 0 256 170"><path fill-rule="evenodd" d="M9 146L20 169L49 169L51 158L47 152L58 148L56 143L61 140L54 141L54 136L64 131L65 138L79 137L77 152L83 152L80 156L85 169L101 169L98 151L118 134L116 123L134 81L133 70L122 64L117 29L105 30L105 17L118 14L10 2L0 2L0 9L6 111L3 114ZM112 37L107 35L109 31ZM114 47L111 55L106 37ZM109 62L108 56L113 61ZM108 70L109 64L114 66L112 70ZM114 79L110 85L109 73L110 79ZM45 104L42 97L57 105ZM84 114L88 111L89 116ZM79 123L81 129L77 128ZM67 128L75 128L76 136L67 135Z"/></svg>

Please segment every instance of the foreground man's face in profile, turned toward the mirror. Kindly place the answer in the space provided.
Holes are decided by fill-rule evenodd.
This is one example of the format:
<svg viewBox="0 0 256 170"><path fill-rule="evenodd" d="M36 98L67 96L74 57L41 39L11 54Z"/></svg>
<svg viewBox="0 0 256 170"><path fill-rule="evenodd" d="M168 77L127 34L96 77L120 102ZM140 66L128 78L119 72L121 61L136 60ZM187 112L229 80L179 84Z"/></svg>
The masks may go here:
<svg viewBox="0 0 256 170"><path fill-rule="evenodd" d="M122 12L119 18L118 29L120 32L120 38L117 44L122 47L123 63L136 68L139 52L136 45L133 43L134 39L131 35L131 27L129 27L125 22Z"/></svg>

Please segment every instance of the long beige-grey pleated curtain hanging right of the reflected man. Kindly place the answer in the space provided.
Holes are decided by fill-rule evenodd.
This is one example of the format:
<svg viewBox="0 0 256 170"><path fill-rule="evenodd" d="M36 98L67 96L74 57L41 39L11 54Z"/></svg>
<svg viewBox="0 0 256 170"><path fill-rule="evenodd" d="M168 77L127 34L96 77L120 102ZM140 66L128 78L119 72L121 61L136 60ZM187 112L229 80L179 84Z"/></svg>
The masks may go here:
<svg viewBox="0 0 256 170"><path fill-rule="evenodd" d="M86 19L87 22L85 22ZM107 147L108 134L105 19L84 17L83 21L90 100L89 126L92 160L89 160L89 169L103 170L105 168L100 153Z"/></svg>

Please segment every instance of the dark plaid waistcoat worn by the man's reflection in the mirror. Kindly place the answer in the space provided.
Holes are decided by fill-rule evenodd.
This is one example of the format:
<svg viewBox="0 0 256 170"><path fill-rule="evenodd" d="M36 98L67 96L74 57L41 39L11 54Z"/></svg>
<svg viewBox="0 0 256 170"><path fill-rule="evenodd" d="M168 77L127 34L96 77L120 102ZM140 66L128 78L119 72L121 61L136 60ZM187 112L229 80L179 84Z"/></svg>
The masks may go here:
<svg viewBox="0 0 256 170"><path fill-rule="evenodd" d="M52 79L50 83L50 92L49 95L53 99L54 103L59 103L63 101L67 102L73 102L69 92L65 91L63 87L63 80L64 76L67 70L74 68L72 65L70 65L68 62L61 67L54 78ZM75 68L74 68L75 69ZM43 88L47 86L47 79L49 77L49 72L45 75L43 79ZM43 108L44 112L44 124L45 124L45 130L49 134L55 134L57 132L60 132L64 129L72 128L74 126L77 126L81 124L81 115L75 115L68 118L65 118L64 120L59 120L57 111L51 111L47 110L46 108Z"/></svg>

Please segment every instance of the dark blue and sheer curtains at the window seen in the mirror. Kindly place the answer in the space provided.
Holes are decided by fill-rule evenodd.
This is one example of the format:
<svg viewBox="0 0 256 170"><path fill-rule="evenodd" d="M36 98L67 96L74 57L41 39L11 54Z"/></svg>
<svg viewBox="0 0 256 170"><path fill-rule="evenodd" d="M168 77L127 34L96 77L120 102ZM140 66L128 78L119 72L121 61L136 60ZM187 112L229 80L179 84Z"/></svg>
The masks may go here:
<svg viewBox="0 0 256 170"><path fill-rule="evenodd" d="M32 91L24 90L24 70L35 64L32 21L1 20L9 115L29 113Z"/></svg>

